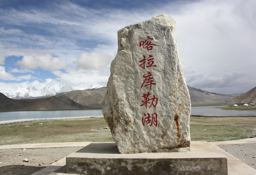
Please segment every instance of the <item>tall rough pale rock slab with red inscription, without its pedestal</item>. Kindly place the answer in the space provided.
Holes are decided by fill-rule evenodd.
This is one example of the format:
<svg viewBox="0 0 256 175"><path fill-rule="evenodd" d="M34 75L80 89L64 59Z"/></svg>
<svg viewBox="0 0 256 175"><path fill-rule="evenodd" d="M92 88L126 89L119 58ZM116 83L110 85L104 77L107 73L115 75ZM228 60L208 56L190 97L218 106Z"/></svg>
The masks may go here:
<svg viewBox="0 0 256 175"><path fill-rule="evenodd" d="M120 153L190 146L191 104L174 28L160 15L118 31L102 112Z"/></svg>

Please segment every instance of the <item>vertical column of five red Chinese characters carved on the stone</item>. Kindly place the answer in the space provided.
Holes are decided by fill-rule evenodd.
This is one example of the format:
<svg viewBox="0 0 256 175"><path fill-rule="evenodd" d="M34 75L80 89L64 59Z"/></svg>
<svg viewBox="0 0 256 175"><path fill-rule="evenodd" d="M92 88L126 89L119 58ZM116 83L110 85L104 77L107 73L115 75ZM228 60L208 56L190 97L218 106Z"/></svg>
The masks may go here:
<svg viewBox="0 0 256 175"><path fill-rule="evenodd" d="M142 48L146 48L148 51L153 49L153 46L156 46L155 44L153 44L151 41L153 41L153 38L147 37L147 39L145 41L140 41L139 42L139 47ZM140 64L139 66L142 69L152 69L154 67L157 67L156 65L154 65L154 58L152 55L148 55L148 58L146 59L146 56L143 55L143 59L138 61ZM143 87L147 87L149 86L149 89L152 89L152 85L156 85L156 83L154 83L154 78L151 72L147 71L146 74L143 75L144 81L141 84L141 89ZM155 108L158 102L158 98L155 97L155 95L151 95L150 92L147 93L143 93L142 97L142 104L140 106L144 106L146 109L151 108L152 106ZM154 124L154 126L157 127L157 113L153 113L152 115L150 113L143 113L143 117L142 117L142 125L145 126L145 123L149 126L152 126Z"/></svg>

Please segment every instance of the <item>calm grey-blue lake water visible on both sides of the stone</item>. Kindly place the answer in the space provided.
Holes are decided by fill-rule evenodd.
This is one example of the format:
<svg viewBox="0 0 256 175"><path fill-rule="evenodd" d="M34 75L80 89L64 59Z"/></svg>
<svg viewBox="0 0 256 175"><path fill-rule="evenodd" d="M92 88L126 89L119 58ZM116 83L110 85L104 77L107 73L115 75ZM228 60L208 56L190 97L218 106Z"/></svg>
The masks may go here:
<svg viewBox="0 0 256 175"><path fill-rule="evenodd" d="M214 107L216 106L191 107L191 113L213 114L213 115L256 114L256 111L222 110ZM83 117L83 116L102 116L102 115L103 114L101 110L12 111L12 112L0 112L0 121L30 119L30 118Z"/></svg>

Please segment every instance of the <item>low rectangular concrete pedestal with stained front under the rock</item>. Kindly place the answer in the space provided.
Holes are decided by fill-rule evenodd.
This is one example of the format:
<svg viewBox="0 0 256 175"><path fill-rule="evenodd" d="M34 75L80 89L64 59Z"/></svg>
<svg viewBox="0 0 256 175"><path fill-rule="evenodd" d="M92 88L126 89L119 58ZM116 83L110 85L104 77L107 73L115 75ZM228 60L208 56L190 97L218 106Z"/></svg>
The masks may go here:
<svg viewBox="0 0 256 175"><path fill-rule="evenodd" d="M228 174L227 158L207 141L191 151L119 154L114 142L91 143L66 157L70 174Z"/></svg>

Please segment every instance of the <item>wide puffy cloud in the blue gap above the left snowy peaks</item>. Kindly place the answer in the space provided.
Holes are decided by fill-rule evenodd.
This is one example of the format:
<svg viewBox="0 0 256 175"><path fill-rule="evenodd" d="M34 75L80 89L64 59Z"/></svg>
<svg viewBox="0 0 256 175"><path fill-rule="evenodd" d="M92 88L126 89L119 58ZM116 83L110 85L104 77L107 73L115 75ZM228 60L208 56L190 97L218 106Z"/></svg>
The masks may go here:
<svg viewBox="0 0 256 175"><path fill-rule="evenodd" d="M66 60L62 57L54 57L50 54L38 56L24 56L22 60L17 61L17 65L22 68L45 70L57 70L67 67Z"/></svg>

